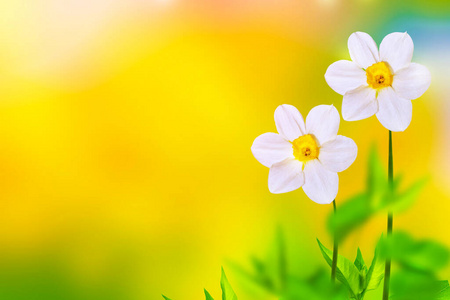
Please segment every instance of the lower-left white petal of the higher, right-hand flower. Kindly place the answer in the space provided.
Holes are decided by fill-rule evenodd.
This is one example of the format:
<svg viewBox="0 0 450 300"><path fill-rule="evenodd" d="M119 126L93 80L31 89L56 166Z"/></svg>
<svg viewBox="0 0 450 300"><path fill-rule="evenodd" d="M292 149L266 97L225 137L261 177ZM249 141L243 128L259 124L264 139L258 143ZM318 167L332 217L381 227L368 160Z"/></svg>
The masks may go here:
<svg viewBox="0 0 450 300"><path fill-rule="evenodd" d="M378 111L376 90L361 86L345 93L342 100L342 118L357 121L373 116Z"/></svg>

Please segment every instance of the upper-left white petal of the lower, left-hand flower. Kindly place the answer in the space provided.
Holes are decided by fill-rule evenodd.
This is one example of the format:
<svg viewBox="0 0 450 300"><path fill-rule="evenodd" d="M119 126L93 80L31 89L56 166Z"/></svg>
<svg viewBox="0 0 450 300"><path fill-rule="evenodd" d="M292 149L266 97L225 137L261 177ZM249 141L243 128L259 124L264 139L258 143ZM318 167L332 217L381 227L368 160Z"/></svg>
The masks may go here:
<svg viewBox="0 0 450 300"><path fill-rule="evenodd" d="M279 134L293 141L305 132L301 113L292 105L283 104L275 110L275 125Z"/></svg>

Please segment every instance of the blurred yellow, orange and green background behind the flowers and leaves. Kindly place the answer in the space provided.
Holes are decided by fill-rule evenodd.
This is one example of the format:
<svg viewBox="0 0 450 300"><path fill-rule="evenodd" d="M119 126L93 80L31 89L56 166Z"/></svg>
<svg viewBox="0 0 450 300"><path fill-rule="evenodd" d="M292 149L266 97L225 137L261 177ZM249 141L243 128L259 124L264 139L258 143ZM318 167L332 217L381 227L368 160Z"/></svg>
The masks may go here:
<svg viewBox="0 0 450 300"><path fill-rule="evenodd" d="M270 194L252 156L283 103L341 107L326 68L354 31L407 31L432 73L394 134L395 173L430 177L395 228L450 246L450 5L376 0L36 0L0 3L2 299L202 299L220 267L263 255L285 231L290 268L324 265L331 206ZM359 146L337 203L364 189L375 117L341 122ZM342 246L370 257L372 220ZM395 272L395 268L394 268ZM450 269L441 274L450 277Z"/></svg>

